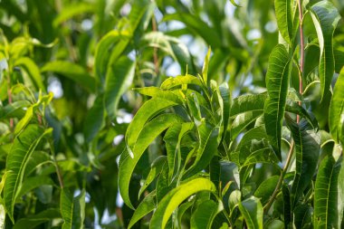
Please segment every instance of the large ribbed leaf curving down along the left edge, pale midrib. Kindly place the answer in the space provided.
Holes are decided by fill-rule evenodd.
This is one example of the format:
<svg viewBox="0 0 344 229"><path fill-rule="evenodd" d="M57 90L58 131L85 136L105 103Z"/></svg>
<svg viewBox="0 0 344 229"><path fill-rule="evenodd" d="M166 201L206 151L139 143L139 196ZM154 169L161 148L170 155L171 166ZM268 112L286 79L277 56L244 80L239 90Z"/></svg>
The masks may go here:
<svg viewBox="0 0 344 229"><path fill-rule="evenodd" d="M5 209L14 222L14 203L23 181L26 164L41 139L53 129L40 128L30 124L14 139L6 160L7 177L4 187Z"/></svg>

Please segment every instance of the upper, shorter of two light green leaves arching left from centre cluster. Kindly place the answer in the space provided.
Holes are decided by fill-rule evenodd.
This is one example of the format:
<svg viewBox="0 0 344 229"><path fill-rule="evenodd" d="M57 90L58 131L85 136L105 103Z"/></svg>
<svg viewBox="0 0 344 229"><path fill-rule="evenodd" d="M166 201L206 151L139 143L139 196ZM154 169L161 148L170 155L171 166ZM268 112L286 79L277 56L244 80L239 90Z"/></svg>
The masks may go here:
<svg viewBox="0 0 344 229"><path fill-rule="evenodd" d="M130 122L126 132L126 142L129 151L132 150L143 126L149 119L157 115L158 112L176 105L177 103L174 101L164 100L161 98L153 98L144 103L143 106L136 113L134 119L132 119L132 121Z"/></svg>

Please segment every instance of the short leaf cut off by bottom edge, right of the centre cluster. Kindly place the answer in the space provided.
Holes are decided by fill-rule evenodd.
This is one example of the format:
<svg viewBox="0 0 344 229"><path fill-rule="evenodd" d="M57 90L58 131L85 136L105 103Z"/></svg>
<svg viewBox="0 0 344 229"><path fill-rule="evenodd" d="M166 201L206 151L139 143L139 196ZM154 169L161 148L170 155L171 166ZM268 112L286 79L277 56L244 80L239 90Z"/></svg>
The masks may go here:
<svg viewBox="0 0 344 229"><path fill-rule="evenodd" d="M263 228L263 206L258 198L251 196L245 199L239 203L239 209L248 229Z"/></svg>

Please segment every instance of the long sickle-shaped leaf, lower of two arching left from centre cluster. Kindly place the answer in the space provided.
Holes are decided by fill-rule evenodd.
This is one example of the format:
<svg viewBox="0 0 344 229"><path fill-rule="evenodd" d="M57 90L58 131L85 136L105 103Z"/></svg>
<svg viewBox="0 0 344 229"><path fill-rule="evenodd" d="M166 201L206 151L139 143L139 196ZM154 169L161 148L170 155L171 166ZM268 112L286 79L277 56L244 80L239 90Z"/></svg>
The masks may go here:
<svg viewBox="0 0 344 229"><path fill-rule="evenodd" d="M144 127L144 131L139 133L138 140L136 141L136 144L133 145L132 151L129 152L128 150L125 150L120 156L119 192L124 203L129 205L129 207L134 208L129 199L129 181L135 166L139 162L139 158L142 156L146 148L148 148L150 143L157 138L162 131L178 122L182 122L182 119L175 114L162 114L157 118L152 119ZM134 122L131 122L131 124L132 123Z"/></svg>

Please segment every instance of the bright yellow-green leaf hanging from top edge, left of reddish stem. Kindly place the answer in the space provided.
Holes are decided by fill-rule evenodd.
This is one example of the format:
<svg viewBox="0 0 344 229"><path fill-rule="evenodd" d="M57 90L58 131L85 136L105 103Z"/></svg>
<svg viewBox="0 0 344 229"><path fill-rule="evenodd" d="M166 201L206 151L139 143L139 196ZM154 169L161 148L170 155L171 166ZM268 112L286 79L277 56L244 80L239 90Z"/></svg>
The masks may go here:
<svg viewBox="0 0 344 229"><path fill-rule="evenodd" d="M274 7L279 31L284 40L291 44L293 40L291 0L274 0Z"/></svg>

